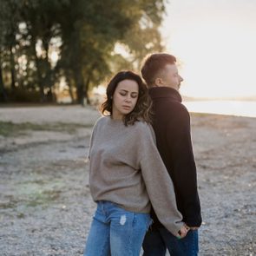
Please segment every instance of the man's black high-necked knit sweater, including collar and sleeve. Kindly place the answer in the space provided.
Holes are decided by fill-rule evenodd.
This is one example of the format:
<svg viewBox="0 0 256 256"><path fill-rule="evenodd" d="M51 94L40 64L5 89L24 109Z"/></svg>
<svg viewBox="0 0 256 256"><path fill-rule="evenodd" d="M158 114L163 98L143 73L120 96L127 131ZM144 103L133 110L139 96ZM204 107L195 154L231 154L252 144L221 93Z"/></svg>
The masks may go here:
<svg viewBox="0 0 256 256"><path fill-rule="evenodd" d="M181 95L175 89L149 89L153 100L153 128L157 148L174 182L177 207L187 226L200 226L200 199L197 190L196 167L190 133L190 116L181 104ZM160 227L154 209L154 226Z"/></svg>

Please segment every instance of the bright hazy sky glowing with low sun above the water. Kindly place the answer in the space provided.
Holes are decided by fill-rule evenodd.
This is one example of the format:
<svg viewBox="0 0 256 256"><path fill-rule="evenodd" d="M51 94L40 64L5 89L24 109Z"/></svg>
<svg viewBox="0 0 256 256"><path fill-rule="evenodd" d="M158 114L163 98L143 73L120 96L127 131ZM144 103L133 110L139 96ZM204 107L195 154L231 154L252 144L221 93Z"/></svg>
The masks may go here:
<svg viewBox="0 0 256 256"><path fill-rule="evenodd" d="M182 95L256 99L255 0L168 0L161 32Z"/></svg>

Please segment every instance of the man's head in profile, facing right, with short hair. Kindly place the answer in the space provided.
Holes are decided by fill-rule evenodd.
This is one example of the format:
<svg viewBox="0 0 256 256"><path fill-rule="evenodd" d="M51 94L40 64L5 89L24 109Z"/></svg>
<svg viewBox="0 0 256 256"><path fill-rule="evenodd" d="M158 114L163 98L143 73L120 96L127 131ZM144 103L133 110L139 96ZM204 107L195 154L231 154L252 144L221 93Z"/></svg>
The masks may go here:
<svg viewBox="0 0 256 256"><path fill-rule="evenodd" d="M141 67L141 75L148 87L169 87L179 90L183 81L176 66L176 58L167 53L146 56Z"/></svg>

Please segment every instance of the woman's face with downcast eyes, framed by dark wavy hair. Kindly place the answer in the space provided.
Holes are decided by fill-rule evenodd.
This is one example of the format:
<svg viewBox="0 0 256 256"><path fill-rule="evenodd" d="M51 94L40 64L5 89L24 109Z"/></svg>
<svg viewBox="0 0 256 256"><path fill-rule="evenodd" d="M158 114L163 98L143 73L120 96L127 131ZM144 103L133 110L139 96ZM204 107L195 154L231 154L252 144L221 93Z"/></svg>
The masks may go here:
<svg viewBox="0 0 256 256"><path fill-rule="evenodd" d="M122 119L131 113L139 96L138 83L133 80L123 80L118 83L113 95L112 118Z"/></svg>

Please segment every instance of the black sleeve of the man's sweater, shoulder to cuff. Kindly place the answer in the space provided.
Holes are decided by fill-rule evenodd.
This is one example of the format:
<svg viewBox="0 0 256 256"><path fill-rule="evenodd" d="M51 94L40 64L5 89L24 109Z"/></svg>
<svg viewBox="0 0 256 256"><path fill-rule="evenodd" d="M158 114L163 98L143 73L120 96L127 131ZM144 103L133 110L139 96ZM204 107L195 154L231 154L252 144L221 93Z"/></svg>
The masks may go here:
<svg viewBox="0 0 256 256"><path fill-rule="evenodd" d="M167 123L167 145L172 163L178 208L188 226L200 226L200 200L197 190L197 174L190 132L190 116L187 108L180 107Z"/></svg>

